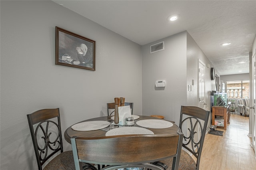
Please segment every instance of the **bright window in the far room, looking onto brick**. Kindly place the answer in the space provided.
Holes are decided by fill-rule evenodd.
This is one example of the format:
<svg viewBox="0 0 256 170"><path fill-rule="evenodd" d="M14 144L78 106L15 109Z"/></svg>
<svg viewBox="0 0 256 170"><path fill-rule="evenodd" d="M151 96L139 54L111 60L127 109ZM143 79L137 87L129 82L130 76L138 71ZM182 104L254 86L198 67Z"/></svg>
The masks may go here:
<svg viewBox="0 0 256 170"><path fill-rule="evenodd" d="M228 98L249 99L249 80L226 81Z"/></svg>

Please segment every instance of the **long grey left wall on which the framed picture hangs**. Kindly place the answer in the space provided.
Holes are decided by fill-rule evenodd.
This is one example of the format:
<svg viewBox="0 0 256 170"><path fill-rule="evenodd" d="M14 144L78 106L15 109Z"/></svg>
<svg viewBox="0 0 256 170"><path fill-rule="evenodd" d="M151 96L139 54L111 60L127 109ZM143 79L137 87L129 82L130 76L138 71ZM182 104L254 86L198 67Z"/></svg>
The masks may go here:
<svg viewBox="0 0 256 170"><path fill-rule="evenodd" d="M1 170L37 169L26 117L36 110L59 107L62 133L106 115L114 97L142 115L140 45L52 1L0 3ZM55 26L96 41L96 71L55 65Z"/></svg>

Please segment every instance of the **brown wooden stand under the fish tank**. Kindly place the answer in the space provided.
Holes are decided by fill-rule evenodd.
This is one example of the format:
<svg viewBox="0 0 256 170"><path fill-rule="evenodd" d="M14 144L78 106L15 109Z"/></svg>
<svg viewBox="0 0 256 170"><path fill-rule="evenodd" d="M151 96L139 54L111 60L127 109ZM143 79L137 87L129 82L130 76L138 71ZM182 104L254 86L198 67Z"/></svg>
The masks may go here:
<svg viewBox="0 0 256 170"><path fill-rule="evenodd" d="M226 130L227 124L230 124L230 105L228 107L212 106L212 125L215 125L215 116L224 117L224 130Z"/></svg>

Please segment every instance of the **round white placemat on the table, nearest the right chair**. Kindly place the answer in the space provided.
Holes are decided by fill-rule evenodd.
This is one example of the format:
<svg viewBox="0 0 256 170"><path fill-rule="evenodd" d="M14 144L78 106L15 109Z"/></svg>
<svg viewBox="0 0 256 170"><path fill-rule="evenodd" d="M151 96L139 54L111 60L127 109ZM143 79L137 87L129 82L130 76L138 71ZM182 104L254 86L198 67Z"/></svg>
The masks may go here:
<svg viewBox="0 0 256 170"><path fill-rule="evenodd" d="M168 128L173 126L173 124L168 121L158 119L141 120L136 122L136 124L146 128Z"/></svg>

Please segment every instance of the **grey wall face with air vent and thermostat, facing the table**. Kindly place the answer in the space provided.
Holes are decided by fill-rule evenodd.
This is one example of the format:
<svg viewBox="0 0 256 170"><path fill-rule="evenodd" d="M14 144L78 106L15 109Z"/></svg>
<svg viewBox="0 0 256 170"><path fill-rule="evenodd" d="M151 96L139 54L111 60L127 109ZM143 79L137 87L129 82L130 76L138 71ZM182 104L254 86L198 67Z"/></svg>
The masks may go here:
<svg viewBox="0 0 256 170"><path fill-rule="evenodd" d="M180 107L186 105L186 33L181 32L142 46L143 115L163 115L180 121ZM164 41L164 50L150 54L150 45ZM155 87L165 80L166 87Z"/></svg>

